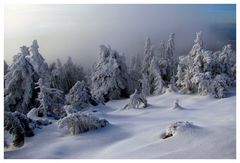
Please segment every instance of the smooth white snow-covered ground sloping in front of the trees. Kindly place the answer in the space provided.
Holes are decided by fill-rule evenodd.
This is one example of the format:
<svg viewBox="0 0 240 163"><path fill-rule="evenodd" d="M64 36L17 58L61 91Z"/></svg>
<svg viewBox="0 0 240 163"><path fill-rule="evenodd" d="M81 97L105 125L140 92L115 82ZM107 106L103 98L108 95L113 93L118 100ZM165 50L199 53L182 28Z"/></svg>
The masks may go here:
<svg viewBox="0 0 240 163"><path fill-rule="evenodd" d="M184 109L172 109L174 101ZM92 114L110 122L105 128L66 135L56 123L35 130L23 147L5 149L5 158L235 158L236 95L210 96L166 93L149 97L150 107L121 110L126 100L93 108ZM177 121L195 127L162 139Z"/></svg>

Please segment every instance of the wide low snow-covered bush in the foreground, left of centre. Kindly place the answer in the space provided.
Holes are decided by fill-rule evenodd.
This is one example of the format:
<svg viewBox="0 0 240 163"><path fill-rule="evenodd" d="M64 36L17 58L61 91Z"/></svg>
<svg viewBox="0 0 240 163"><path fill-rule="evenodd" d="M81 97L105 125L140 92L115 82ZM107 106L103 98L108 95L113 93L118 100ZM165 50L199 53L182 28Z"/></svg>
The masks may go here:
<svg viewBox="0 0 240 163"><path fill-rule="evenodd" d="M105 127L109 122L105 119L98 119L92 115L72 113L57 122L59 128L67 127L71 135L95 130Z"/></svg>

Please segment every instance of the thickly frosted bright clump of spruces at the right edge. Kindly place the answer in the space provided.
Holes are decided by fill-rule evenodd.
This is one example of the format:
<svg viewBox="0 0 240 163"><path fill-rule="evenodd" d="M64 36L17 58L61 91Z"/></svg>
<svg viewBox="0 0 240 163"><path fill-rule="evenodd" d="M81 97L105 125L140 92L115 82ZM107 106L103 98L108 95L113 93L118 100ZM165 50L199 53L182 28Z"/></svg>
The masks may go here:
<svg viewBox="0 0 240 163"><path fill-rule="evenodd" d="M225 97L236 80L236 54L231 45L215 53L205 50L202 32L197 32L189 54L179 57L176 76L181 93Z"/></svg>

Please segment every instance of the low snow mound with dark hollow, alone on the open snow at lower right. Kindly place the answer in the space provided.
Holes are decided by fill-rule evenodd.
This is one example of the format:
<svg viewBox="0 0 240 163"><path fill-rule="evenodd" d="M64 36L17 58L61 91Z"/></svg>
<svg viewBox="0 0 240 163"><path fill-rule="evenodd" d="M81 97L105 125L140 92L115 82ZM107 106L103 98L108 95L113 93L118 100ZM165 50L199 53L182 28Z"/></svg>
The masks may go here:
<svg viewBox="0 0 240 163"><path fill-rule="evenodd" d="M195 131L195 129L198 129L199 126L194 125L191 122L188 121L179 121L179 122L175 122L172 123L165 131L165 133L163 133L161 135L162 139L166 139L169 137L172 137L176 134L183 134L183 133L192 133Z"/></svg>

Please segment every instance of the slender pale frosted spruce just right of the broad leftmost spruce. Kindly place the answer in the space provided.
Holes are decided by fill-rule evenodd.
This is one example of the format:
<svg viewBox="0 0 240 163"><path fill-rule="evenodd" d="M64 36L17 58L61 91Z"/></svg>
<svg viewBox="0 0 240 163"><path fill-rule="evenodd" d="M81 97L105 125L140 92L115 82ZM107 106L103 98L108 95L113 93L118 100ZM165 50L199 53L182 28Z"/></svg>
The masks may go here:
<svg viewBox="0 0 240 163"><path fill-rule="evenodd" d="M48 64L38 51L39 46L37 40L34 40L30 52L31 55L27 57L32 64L34 71L38 74L39 78L42 78L44 85L50 86L50 72L48 70Z"/></svg>

